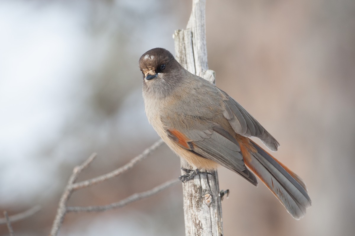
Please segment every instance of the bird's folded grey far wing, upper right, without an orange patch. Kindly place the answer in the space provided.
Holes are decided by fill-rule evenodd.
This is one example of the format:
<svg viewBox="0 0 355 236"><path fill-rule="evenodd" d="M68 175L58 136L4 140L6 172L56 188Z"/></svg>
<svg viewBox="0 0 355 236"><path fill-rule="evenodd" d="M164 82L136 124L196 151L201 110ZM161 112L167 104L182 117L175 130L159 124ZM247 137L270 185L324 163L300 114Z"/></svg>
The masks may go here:
<svg viewBox="0 0 355 236"><path fill-rule="evenodd" d="M277 151L277 148L280 146L277 140L239 103L224 91L220 91L226 97L226 100L223 101L225 104L223 115L229 121L234 131L245 137L257 137L270 150Z"/></svg>

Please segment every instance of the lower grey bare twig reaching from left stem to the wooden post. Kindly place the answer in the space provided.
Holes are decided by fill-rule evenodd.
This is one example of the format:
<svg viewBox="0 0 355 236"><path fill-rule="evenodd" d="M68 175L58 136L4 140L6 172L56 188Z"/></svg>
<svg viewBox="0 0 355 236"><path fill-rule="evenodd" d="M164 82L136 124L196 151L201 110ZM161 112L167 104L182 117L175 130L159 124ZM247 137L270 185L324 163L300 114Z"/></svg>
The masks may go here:
<svg viewBox="0 0 355 236"><path fill-rule="evenodd" d="M150 197L154 194L157 194L158 192L163 191L164 189L169 188L170 186L180 183L180 180L178 178L172 179L168 182L165 182L161 185L156 186L155 188L141 192L141 193L136 193L133 194L119 202L114 202L108 205L104 206L88 206L88 207L67 207L67 212L103 212L111 209L116 209L120 207L124 207L128 205L129 203L141 200L143 198Z"/></svg>

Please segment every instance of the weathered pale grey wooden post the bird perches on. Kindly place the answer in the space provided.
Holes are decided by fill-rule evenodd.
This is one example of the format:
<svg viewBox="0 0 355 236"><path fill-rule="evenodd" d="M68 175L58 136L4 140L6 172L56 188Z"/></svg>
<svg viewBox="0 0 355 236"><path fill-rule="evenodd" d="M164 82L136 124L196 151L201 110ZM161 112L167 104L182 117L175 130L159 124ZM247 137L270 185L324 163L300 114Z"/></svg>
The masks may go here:
<svg viewBox="0 0 355 236"><path fill-rule="evenodd" d="M193 0L186 30L176 30L176 60L191 73L214 83L214 71L208 69L206 47L206 0ZM181 159L181 167L192 167ZM218 174L200 174L182 184L186 236L222 236L222 206ZM182 172L185 174L185 172Z"/></svg>

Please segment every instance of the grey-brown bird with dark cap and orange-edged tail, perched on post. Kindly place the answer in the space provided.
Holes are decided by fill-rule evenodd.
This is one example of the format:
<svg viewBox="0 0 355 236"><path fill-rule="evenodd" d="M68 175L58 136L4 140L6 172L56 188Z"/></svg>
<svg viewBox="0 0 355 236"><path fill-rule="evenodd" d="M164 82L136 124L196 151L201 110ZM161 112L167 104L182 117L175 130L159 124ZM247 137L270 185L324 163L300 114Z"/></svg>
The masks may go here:
<svg viewBox="0 0 355 236"><path fill-rule="evenodd" d="M139 67L149 123L195 174L223 166L255 186L257 176L293 218L304 217L311 206L306 184L250 139L259 138L271 151L280 146L239 103L187 71L164 48L145 52Z"/></svg>

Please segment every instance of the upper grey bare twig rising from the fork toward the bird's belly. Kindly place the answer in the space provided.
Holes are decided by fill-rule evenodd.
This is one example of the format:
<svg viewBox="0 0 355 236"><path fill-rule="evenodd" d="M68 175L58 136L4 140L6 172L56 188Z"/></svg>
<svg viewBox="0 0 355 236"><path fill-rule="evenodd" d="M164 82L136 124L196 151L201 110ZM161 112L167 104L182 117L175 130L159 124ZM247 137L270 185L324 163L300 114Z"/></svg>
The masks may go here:
<svg viewBox="0 0 355 236"><path fill-rule="evenodd" d="M82 182L78 182L75 184L72 184L72 189L76 190L76 189L81 189L81 188L86 188L88 186L91 186L93 184L97 184L100 182L103 182L105 180L111 179L113 177L116 177L122 173L125 173L127 171L129 171L133 166L135 166L138 162L144 160L147 156L149 156L153 151L155 151L157 148L159 148L160 145L162 145L164 142L162 139L158 140L157 142L155 142L152 146L150 146L149 148L147 148L146 150L144 150L142 152L142 154L136 156L135 158L133 158L129 163L127 163L126 165L115 169L114 171L107 173L107 174L103 174L100 175L96 178L92 178L92 179L88 179Z"/></svg>

